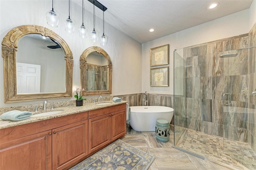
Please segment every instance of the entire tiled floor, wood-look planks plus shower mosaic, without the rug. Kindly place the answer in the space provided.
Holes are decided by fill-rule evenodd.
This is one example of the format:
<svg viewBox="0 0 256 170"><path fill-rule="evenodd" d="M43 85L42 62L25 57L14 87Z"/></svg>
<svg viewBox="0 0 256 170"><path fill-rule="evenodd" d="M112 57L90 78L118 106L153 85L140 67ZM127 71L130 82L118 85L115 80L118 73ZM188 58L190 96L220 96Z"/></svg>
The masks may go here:
<svg viewBox="0 0 256 170"><path fill-rule="evenodd" d="M160 142L156 140L155 132L138 132L127 125L127 132L122 140L156 157L148 170L256 169L256 154L247 143L175 127L175 133L180 133L178 147L205 157L201 159L173 148L174 129L172 125L170 128L170 140Z"/></svg>

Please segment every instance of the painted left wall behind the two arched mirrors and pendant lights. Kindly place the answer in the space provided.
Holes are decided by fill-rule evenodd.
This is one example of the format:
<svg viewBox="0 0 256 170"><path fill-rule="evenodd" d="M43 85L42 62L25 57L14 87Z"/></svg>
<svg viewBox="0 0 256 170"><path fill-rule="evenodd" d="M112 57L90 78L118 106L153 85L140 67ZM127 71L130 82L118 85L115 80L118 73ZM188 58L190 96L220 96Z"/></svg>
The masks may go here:
<svg viewBox="0 0 256 170"><path fill-rule="evenodd" d="M67 3L63 3L67 2ZM85 2L90 3L90 2ZM141 93L141 49L142 45L126 34L120 32L105 22L105 35L109 37L108 45L92 43L90 38L79 37L78 28L82 25L82 9L71 1L70 17L75 22L76 28L73 34L64 30L64 20L68 18L68 1L54 1L54 11L60 17L57 28L46 24L46 12L51 10L50 0L0 0L0 40L14 27L21 25L39 25L53 30L61 36L70 47L74 57L73 88L80 86L79 59L82 52L93 45L102 47L110 56L113 65L112 71L112 95ZM93 30L93 14L85 10L84 25L88 28L88 35ZM102 20L96 17L96 31L102 35ZM74 96L74 95L73 95ZM95 97L95 96L94 96ZM90 97L86 97L90 98ZM52 101L75 100L52 99ZM4 103L3 83L3 59L0 57L0 107L43 103L43 101Z"/></svg>

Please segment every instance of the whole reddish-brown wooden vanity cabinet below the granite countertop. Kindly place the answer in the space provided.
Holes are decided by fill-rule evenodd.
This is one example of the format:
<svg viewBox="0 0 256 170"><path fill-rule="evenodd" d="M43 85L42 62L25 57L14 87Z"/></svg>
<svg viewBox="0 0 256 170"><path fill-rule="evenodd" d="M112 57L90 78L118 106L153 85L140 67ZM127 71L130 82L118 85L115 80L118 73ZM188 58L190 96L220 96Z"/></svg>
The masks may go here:
<svg viewBox="0 0 256 170"><path fill-rule="evenodd" d="M126 104L0 129L0 169L60 170L126 134Z"/></svg>

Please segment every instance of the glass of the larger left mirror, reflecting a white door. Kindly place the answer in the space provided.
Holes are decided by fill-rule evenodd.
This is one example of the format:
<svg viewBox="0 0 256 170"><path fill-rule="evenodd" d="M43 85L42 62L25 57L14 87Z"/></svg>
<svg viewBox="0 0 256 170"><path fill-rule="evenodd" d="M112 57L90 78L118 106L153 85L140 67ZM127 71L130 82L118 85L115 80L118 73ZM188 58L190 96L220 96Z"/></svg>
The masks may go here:
<svg viewBox="0 0 256 170"><path fill-rule="evenodd" d="M42 39L39 34L28 34L22 37L18 42L16 65L18 63L40 65L40 79L35 79L34 75L32 77L29 75L30 82L27 82L27 87L25 87L29 89L25 90L24 87L18 86L18 81L25 80L18 79L17 69L17 94L66 91L66 61L64 55L62 47L52 38ZM28 68L29 70L26 70L26 72L33 71L32 68ZM40 83L39 91L36 90L38 83Z"/></svg>

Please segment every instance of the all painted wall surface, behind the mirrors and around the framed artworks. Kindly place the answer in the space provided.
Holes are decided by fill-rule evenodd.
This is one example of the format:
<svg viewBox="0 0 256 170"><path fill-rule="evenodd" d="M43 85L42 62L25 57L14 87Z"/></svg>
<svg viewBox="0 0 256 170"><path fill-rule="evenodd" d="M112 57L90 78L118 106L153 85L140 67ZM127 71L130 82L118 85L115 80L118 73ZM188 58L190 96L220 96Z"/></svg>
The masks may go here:
<svg viewBox="0 0 256 170"><path fill-rule="evenodd" d="M50 5L49 5L50 4ZM64 31L64 20L68 17L68 3L54 1L54 11L60 16L60 24L57 28L52 28L46 24L45 13L50 10L51 3L46 0L0 0L0 39L16 26L26 24L36 24L53 30L60 35L69 45L74 57L73 87L80 86L79 57L82 52L93 45L102 47L99 43L93 44L89 38L81 39L78 34L78 26L82 23L80 14L81 8L72 3L71 19L76 24L74 34ZM134 93L157 93L173 94L173 50L199 43L210 42L231 36L248 33L251 26L256 22L256 2L248 10L237 12L226 17L213 20L195 26L175 34L140 44L120 32L106 21L105 33L109 36L106 47L102 47L110 56L113 64L112 75L112 95L125 95ZM6 15L8 14L8 15ZM88 28L88 33L93 30L93 14L85 10L84 25ZM102 32L102 20L96 18L96 31ZM169 87L150 87L150 48L159 45L170 44L170 69ZM4 103L4 83L3 83L3 60L0 59L0 107L41 103L42 101L31 101L21 103ZM72 97L67 100L74 100ZM63 101L66 99L52 99L51 101Z"/></svg>

